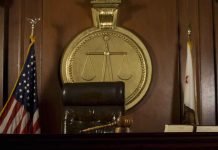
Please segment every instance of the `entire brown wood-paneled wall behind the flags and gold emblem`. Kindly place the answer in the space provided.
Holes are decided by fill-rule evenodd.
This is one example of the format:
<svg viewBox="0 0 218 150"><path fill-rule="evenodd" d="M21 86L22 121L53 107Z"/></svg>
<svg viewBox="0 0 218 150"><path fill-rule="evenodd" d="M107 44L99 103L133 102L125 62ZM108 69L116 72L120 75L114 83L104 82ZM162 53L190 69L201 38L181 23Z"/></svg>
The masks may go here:
<svg viewBox="0 0 218 150"><path fill-rule="evenodd" d="M134 132L161 132L165 124L180 122L180 77L183 79L184 76L189 24L193 29L200 121L208 125L216 123L217 65L214 62L218 55L214 57L214 48L217 50L218 46L215 38L218 33L215 13L218 11L217 5L216 0L123 1L119 25L131 30L143 41L153 63L153 80L148 93L127 112L134 119ZM8 92L10 93L26 56L30 25L25 18L40 17L41 22L35 33L42 132L60 133L60 60L69 42L92 26L90 4L86 0L14 0L10 2L9 10ZM0 7L0 16L2 15L4 9ZM2 22L4 21L0 19ZM2 25L0 53L4 47ZM3 59L0 56L0 85L4 80ZM0 90L3 90L3 86Z"/></svg>

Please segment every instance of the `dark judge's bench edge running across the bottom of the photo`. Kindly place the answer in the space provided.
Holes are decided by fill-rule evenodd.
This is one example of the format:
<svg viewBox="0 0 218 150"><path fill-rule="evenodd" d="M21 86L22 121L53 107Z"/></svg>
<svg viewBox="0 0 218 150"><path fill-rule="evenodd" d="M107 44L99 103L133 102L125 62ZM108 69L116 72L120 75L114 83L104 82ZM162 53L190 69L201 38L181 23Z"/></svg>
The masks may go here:
<svg viewBox="0 0 218 150"><path fill-rule="evenodd" d="M217 133L0 135L11 149L217 149Z"/></svg>

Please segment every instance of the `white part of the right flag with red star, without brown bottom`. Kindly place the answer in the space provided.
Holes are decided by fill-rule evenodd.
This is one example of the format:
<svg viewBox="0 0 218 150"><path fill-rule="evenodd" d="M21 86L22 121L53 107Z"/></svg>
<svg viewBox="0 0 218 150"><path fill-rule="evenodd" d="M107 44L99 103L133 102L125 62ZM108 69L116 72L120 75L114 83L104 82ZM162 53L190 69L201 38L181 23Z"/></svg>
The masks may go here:
<svg viewBox="0 0 218 150"><path fill-rule="evenodd" d="M184 104L195 112L196 123L198 123L197 102L195 97L195 78L193 73L191 50L192 50L191 41L188 40L186 70L185 70L185 85L184 85Z"/></svg>

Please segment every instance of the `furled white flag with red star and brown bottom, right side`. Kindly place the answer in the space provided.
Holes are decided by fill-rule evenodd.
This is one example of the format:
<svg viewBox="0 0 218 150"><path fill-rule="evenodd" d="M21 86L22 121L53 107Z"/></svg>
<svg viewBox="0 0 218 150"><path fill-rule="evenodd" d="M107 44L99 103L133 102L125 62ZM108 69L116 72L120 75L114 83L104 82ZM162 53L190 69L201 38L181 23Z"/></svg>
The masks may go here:
<svg viewBox="0 0 218 150"><path fill-rule="evenodd" d="M184 83L184 105L185 105L184 112L188 113L188 115L185 114L184 116L186 116L185 119L189 120L190 124L198 124L197 101L196 100L197 99L196 99L196 94L195 94L195 78L194 78L193 59L192 59L192 42L190 39L188 39L185 83ZM187 119L187 117L189 119Z"/></svg>

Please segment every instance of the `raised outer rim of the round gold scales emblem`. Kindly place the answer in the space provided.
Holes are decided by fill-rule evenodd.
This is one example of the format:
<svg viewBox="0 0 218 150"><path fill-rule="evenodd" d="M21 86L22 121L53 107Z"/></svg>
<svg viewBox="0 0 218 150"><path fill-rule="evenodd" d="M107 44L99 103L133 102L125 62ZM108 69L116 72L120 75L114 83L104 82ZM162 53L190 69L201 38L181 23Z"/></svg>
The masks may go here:
<svg viewBox="0 0 218 150"><path fill-rule="evenodd" d="M70 49L70 48L77 47L77 49L79 49L82 46L82 43L84 43L83 39L86 38L87 36L90 36L91 34L93 34L93 37L94 37L95 32L104 32L104 30L96 28L96 27L87 29L87 30L83 31L82 33L80 33L67 46L67 48L63 54L62 60L61 60L61 69L60 69L61 79L62 79L63 83L75 82L73 79L69 79L69 76L68 76L68 74L72 75L72 72L66 72L68 70L67 66L69 66L70 62L72 61L72 58L71 58L72 57L71 56L72 49ZM133 47L135 47L135 49L137 49L137 53L139 53L139 52L141 53L141 54L138 54L138 56L140 57L141 61L143 60L141 63L145 63L144 64L145 69L147 69L147 70L142 69L142 74L144 76L144 79L143 78L140 79L143 83L143 84L141 84L142 86L140 86L140 87L137 86L137 88L134 90L134 92L132 94L130 94L128 99L125 100L125 102L127 101L127 103L125 104L125 110L129 110L130 108L135 106L139 101L141 101L141 99L147 93L147 90L148 90L150 83L151 83L151 80L152 80L152 62L151 62L150 55L148 53L147 48L138 39L138 37L136 37L130 31L128 31L124 28L121 28L121 27L116 27L115 29L112 30L112 32L118 32L121 35L125 35L129 39L131 39L132 42L134 42L134 45L131 44L131 46L133 46ZM128 39L128 38L126 38L126 39ZM81 42L81 41L83 41L83 42ZM74 55L75 55L75 53L74 53ZM69 56L71 56L71 57L69 57ZM144 58L141 58L141 56L143 56Z"/></svg>

